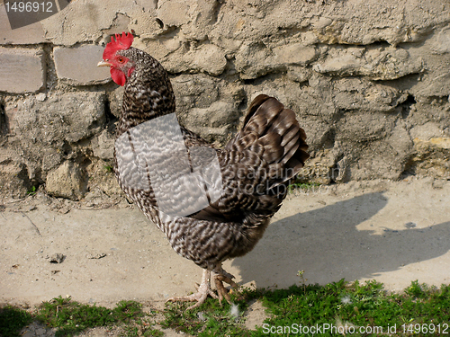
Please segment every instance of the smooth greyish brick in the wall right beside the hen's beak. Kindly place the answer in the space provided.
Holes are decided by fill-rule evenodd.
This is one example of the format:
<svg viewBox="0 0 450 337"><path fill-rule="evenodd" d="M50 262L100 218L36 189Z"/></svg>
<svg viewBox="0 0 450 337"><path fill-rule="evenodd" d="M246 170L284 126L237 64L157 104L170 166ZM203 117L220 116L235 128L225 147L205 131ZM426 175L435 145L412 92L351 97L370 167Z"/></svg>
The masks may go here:
<svg viewBox="0 0 450 337"><path fill-rule="evenodd" d="M97 67L103 50L104 47L97 45L53 49L58 78L74 84L101 84L110 81L109 69Z"/></svg>

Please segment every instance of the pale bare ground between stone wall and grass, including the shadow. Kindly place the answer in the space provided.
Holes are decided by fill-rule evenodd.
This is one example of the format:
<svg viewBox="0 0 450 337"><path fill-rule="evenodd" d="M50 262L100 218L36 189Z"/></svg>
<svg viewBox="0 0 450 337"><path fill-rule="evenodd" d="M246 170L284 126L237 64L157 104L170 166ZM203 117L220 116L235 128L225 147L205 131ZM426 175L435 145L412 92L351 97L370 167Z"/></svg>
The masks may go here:
<svg viewBox="0 0 450 337"><path fill-rule="evenodd" d="M57 209L39 194L6 200L0 237L0 303L62 295L162 305L202 275L126 203ZM350 182L291 194L255 250L224 269L243 286L288 287L304 270L308 283L377 279L398 291L415 279L449 283L449 250L449 181Z"/></svg>

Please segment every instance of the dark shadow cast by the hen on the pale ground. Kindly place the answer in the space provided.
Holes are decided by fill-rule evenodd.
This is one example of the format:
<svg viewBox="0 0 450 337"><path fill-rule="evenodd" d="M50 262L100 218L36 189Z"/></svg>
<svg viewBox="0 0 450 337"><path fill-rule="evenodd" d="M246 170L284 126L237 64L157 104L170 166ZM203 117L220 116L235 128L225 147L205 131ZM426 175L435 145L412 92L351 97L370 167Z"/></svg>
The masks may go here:
<svg viewBox="0 0 450 337"><path fill-rule="evenodd" d="M298 270L305 270L307 283L369 278L450 250L450 221L396 231L388 229L389 218L380 224L375 217L372 226L384 228L383 235L356 229L387 202L383 193L368 193L275 221L253 252L232 262L240 283L286 288L298 284Z"/></svg>

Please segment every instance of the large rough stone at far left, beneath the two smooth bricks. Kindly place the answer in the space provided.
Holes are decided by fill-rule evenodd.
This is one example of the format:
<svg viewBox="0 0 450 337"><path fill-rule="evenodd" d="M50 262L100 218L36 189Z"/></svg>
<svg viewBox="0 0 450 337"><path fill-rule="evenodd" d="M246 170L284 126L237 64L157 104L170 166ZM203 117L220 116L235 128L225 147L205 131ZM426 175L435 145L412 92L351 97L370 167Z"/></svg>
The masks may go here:
<svg viewBox="0 0 450 337"><path fill-rule="evenodd" d="M9 134L0 155L6 147L13 163L23 164L28 188L46 182L47 173L61 162L88 163L88 139L103 129L103 101L103 93L66 93L44 102L34 96L7 102Z"/></svg>

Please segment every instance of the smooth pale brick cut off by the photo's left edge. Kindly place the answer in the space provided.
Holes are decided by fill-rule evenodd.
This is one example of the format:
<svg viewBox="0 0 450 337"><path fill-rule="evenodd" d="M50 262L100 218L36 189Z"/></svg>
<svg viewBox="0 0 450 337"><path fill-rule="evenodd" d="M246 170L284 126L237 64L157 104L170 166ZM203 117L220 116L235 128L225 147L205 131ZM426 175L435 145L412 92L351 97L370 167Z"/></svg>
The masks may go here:
<svg viewBox="0 0 450 337"><path fill-rule="evenodd" d="M0 92L34 93L43 87L45 64L41 49L0 48Z"/></svg>

